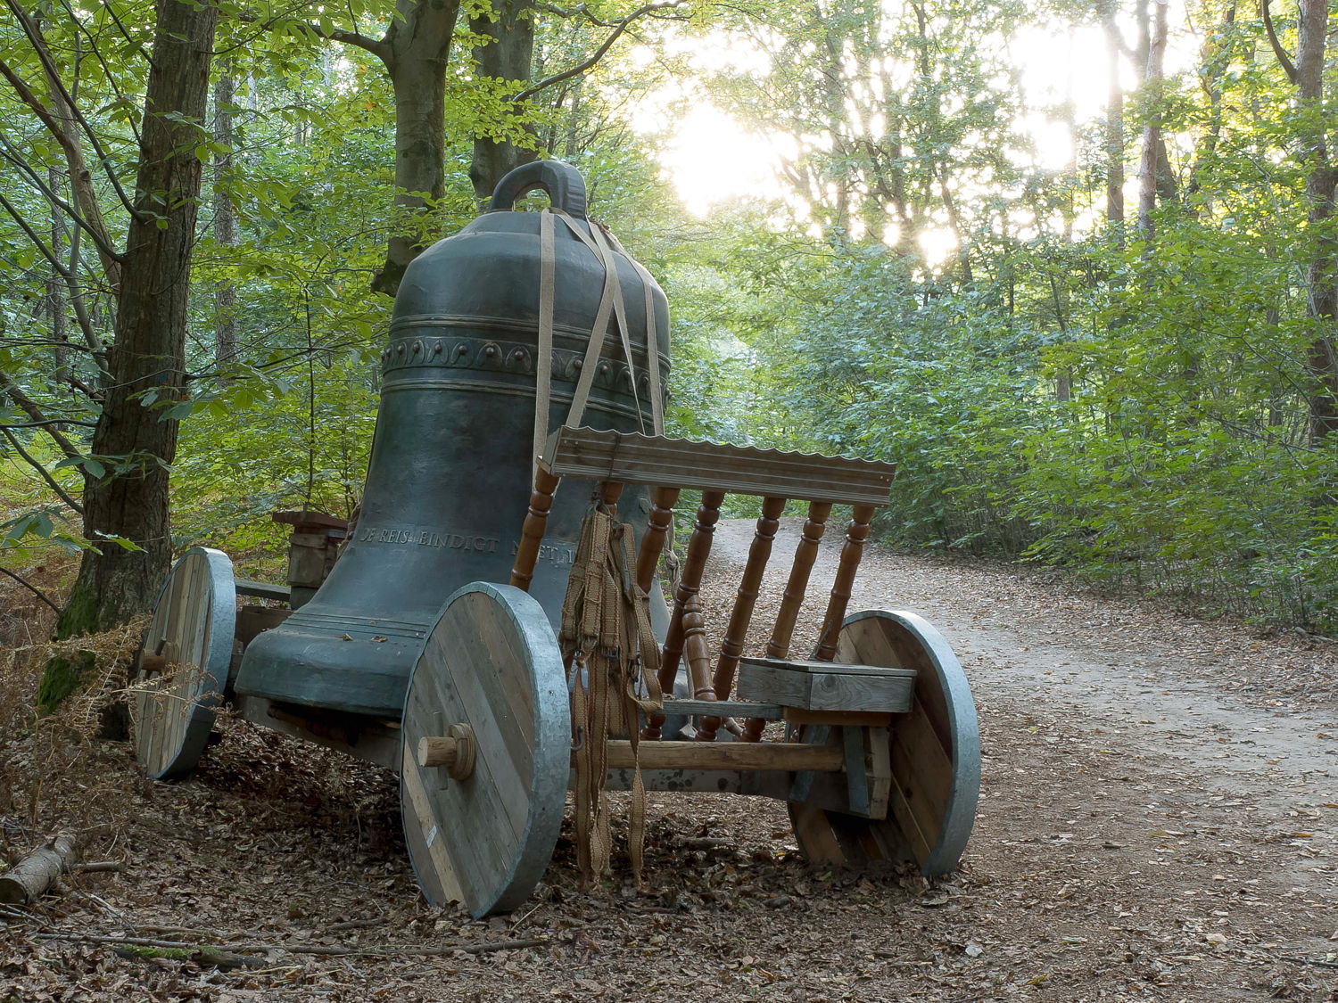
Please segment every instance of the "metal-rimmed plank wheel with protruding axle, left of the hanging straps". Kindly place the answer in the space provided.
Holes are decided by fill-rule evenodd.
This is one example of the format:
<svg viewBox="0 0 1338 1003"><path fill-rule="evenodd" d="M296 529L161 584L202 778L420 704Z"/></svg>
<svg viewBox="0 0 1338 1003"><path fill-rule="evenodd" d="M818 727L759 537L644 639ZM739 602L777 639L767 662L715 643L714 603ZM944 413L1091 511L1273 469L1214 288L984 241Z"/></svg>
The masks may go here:
<svg viewBox="0 0 1338 1003"><path fill-rule="evenodd" d="M447 599L401 732L400 810L423 895L475 916L514 909L553 856L571 762L562 651L539 603L484 582Z"/></svg>

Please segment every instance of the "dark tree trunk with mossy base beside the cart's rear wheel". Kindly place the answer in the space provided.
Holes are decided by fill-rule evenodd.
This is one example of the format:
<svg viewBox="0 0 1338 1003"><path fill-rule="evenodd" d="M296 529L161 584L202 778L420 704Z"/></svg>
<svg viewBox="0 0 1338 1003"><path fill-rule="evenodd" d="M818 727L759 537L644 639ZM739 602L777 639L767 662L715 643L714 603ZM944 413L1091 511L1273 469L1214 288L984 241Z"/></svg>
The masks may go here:
<svg viewBox="0 0 1338 1003"><path fill-rule="evenodd" d="M175 399L185 384L186 308L195 239L201 162L195 156L218 8L158 0L153 68L135 179L135 218L126 238L108 352L103 407L91 453L107 473L84 479L84 535L124 536L140 550L102 543L84 551L56 637L124 623L149 610L171 563L167 469L177 452L177 421L159 417L142 396ZM112 464L123 464L116 471ZM39 702L51 707L79 682L82 666L47 666Z"/></svg>

